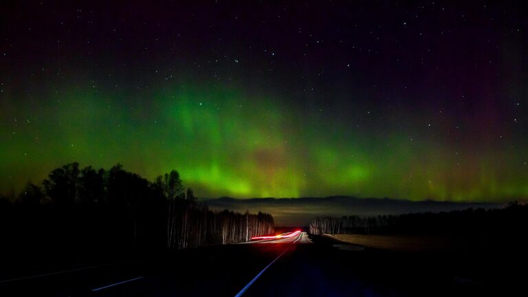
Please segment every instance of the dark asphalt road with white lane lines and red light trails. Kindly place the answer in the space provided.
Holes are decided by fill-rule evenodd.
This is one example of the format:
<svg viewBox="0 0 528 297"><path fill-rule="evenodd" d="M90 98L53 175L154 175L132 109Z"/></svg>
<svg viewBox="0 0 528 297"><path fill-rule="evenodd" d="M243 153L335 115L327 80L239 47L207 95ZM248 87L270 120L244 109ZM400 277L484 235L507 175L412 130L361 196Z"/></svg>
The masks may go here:
<svg viewBox="0 0 528 297"><path fill-rule="evenodd" d="M467 255L351 247L303 232L3 280L0 296L505 296L515 289L479 263Z"/></svg>

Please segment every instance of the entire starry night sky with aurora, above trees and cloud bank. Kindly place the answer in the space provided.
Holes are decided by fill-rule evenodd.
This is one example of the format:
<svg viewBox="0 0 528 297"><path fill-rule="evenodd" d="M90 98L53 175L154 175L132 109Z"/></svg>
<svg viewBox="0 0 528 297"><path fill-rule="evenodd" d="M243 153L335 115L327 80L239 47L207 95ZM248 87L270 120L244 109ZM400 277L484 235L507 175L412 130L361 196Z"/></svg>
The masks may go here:
<svg viewBox="0 0 528 297"><path fill-rule="evenodd" d="M198 197L528 196L522 1L20 2L0 192L120 162Z"/></svg>

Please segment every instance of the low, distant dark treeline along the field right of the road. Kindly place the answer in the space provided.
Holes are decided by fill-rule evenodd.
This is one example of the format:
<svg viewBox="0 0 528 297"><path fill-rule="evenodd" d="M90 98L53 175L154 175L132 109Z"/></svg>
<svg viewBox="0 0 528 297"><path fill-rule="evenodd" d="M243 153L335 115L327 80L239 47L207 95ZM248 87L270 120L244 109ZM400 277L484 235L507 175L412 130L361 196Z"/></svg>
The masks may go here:
<svg viewBox="0 0 528 297"><path fill-rule="evenodd" d="M373 217L317 217L311 234L526 234L528 205L505 208L423 212Z"/></svg>

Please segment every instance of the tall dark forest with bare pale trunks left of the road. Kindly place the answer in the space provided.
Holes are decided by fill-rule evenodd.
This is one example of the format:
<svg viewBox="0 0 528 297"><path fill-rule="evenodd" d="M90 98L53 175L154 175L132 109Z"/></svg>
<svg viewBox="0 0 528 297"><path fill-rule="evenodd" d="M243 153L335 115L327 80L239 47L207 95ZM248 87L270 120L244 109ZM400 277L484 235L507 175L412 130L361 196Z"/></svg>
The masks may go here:
<svg viewBox="0 0 528 297"><path fill-rule="evenodd" d="M270 214L208 209L176 170L148 181L120 164L104 170L72 163L41 186L0 197L2 248L14 250L184 249L273 232Z"/></svg>

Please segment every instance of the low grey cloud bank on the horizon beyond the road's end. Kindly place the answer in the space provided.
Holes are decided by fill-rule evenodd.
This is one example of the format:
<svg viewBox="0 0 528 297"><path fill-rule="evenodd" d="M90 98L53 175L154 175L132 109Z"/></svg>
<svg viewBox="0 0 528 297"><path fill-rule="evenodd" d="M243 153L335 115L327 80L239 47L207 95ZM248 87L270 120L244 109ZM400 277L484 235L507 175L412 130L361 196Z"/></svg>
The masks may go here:
<svg viewBox="0 0 528 297"><path fill-rule="evenodd" d="M390 198L358 198L352 196L303 197L303 198L252 198L234 199L222 197L203 199L212 209L230 209L238 212L268 212L275 225L300 226L316 216L404 214L410 212L448 212L467 208L499 208L503 203L408 201Z"/></svg>

